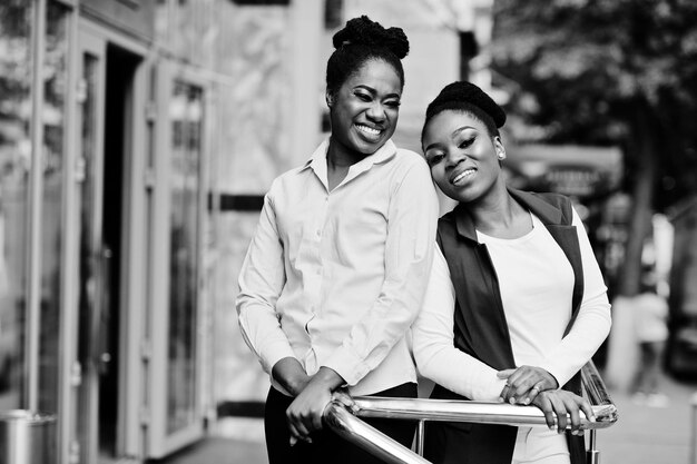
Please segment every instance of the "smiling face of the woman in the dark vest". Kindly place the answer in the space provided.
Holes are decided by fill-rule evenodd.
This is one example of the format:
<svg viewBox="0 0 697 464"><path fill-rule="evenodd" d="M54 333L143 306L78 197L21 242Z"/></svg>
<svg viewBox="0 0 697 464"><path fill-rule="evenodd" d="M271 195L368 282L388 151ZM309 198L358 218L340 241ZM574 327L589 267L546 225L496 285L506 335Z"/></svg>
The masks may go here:
<svg viewBox="0 0 697 464"><path fill-rule="evenodd" d="M499 160L505 156L499 137L469 112L444 110L429 120L422 147L431 177L450 198L477 203L505 191Z"/></svg>

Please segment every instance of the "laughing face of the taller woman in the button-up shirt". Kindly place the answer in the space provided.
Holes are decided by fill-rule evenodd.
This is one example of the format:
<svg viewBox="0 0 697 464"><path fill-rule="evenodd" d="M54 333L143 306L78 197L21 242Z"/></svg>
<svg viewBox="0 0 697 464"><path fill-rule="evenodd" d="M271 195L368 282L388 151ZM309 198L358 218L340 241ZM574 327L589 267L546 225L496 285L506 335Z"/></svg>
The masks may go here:
<svg viewBox="0 0 697 464"><path fill-rule="evenodd" d="M351 156L374 154L394 134L400 115L402 81L383 60L370 60L327 93L332 142Z"/></svg>

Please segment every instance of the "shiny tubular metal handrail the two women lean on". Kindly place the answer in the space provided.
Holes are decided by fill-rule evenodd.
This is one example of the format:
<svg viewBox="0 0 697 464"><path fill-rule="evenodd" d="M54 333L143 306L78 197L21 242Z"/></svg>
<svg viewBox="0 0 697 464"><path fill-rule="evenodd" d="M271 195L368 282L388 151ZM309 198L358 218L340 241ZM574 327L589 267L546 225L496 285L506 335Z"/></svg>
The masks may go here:
<svg viewBox="0 0 697 464"><path fill-rule="evenodd" d="M596 430L606 428L618 419L617 407L610 399L598 369L588 363L581 371L583 389L591 404L595 421L580 412L581 428L590 431L588 463L597 463ZM419 422L416 451L367 425L359 417L382 417ZM470 422L478 424L505 424L512 426L547 426L544 414L534 406L516 406L505 403L481 403L468 401L351 397L345 392L334 395L334 401L324 412L324 422L345 440L379 456L386 463L423 464L429 461L420 456L423 446L423 422Z"/></svg>

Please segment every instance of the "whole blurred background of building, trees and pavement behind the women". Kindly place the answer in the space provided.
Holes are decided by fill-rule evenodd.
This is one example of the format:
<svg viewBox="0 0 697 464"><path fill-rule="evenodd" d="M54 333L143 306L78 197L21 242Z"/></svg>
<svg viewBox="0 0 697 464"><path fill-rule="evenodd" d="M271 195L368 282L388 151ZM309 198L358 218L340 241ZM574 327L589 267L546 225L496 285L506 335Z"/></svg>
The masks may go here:
<svg viewBox="0 0 697 464"><path fill-rule="evenodd" d="M470 80L508 111L510 182L575 199L624 303L595 359L620 407L603 462L687 462L691 0L0 1L0 411L55 415L59 463L266 462L237 274L272 180L328 131L331 37L360 14L410 39L399 146ZM660 404L634 395L647 275Z"/></svg>

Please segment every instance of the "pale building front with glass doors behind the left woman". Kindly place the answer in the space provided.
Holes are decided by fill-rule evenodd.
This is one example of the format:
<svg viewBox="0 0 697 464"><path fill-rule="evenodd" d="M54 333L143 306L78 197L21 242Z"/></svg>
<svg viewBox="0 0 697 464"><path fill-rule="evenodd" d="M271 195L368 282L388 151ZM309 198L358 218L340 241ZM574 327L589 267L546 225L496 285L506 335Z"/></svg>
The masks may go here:
<svg viewBox="0 0 697 464"><path fill-rule="evenodd" d="M261 401L237 273L272 180L326 136L331 34L405 29L395 138L419 149L487 33L491 2L461 3L0 2L0 411L55 414L61 464L141 463Z"/></svg>

